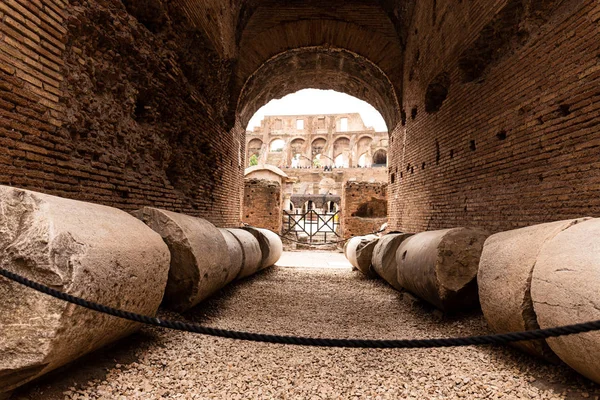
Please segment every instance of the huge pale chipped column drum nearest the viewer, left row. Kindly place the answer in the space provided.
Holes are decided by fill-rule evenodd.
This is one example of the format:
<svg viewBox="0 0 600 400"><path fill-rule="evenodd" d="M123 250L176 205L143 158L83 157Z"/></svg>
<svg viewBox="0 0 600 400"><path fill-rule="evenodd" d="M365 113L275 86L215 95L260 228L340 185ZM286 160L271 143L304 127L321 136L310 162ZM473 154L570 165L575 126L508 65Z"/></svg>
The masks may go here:
<svg viewBox="0 0 600 400"><path fill-rule="evenodd" d="M124 211L0 186L0 266L86 300L155 315L169 271L160 235ZM0 393L140 324L0 277Z"/></svg>

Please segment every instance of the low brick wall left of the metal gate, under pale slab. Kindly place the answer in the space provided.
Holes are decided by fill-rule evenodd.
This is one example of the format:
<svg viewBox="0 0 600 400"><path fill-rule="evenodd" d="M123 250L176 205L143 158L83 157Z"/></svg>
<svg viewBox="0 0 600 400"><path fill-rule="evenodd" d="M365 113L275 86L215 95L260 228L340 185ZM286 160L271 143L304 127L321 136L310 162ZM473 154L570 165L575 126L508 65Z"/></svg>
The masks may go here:
<svg viewBox="0 0 600 400"><path fill-rule="evenodd" d="M246 179L242 220L252 226L281 232L281 185L263 179Z"/></svg>

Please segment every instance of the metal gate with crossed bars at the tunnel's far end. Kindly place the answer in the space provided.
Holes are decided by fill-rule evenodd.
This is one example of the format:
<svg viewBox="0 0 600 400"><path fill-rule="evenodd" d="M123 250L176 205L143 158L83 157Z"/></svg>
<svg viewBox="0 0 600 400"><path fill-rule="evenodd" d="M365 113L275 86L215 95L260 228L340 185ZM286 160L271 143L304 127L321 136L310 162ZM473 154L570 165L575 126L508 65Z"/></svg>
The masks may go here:
<svg viewBox="0 0 600 400"><path fill-rule="evenodd" d="M337 240L340 227L340 212L318 213L308 210L305 213L289 213L283 211L282 236L292 235L296 240L307 238L307 243Z"/></svg>

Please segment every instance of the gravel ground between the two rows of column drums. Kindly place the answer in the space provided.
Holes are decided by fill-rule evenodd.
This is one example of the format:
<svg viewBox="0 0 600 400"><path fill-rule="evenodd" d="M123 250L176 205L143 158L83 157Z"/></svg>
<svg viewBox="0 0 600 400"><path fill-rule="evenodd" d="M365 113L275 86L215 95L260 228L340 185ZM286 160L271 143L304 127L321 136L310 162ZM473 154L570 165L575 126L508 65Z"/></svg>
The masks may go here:
<svg viewBox="0 0 600 400"><path fill-rule="evenodd" d="M271 334L424 338L489 333L349 269L275 267L183 315ZM21 388L13 399L579 399L600 387L512 348L292 347L150 327Z"/></svg>

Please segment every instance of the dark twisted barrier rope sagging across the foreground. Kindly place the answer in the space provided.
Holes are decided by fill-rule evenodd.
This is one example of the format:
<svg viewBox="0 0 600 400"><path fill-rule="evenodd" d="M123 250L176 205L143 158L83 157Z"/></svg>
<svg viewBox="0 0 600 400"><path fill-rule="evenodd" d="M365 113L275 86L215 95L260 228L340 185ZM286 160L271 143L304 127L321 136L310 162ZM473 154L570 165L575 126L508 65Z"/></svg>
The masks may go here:
<svg viewBox="0 0 600 400"><path fill-rule="evenodd" d="M225 329L210 328L197 324L190 324L182 321L170 321L160 318L149 317L131 313L116 308L108 307L92 301L84 300L80 297L52 289L48 286L31 281L21 275L0 268L0 275L25 285L38 292L48 294L60 300L76 304L90 310L98 311L104 314L123 318L129 321L141 322L147 325L159 326L184 332L199 333L203 335L217 336L229 339L248 340L253 342L293 344L302 346L320 346L320 347L351 347L351 348L373 348L373 349L399 349L399 348L434 348L434 347L455 347L472 345L501 345L510 342L519 342L523 340L547 339L563 335L573 335L600 330L600 320L590 321L581 324L560 326L557 328L536 329L525 332L501 333L485 336L470 336L457 338L440 339L401 339L401 340L363 340L363 339L320 339L310 337L265 335L260 333L230 331Z"/></svg>

